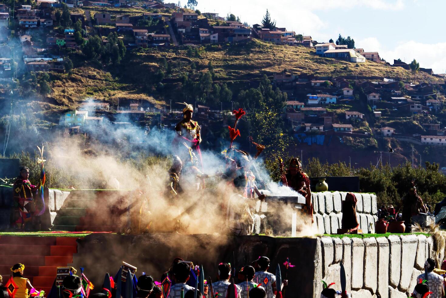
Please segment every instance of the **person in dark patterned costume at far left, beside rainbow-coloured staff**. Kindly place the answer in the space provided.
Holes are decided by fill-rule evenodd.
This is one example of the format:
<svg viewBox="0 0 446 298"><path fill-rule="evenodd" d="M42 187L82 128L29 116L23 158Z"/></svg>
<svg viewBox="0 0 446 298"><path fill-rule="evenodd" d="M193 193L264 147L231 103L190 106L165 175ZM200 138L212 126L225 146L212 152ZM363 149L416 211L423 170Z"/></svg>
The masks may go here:
<svg viewBox="0 0 446 298"><path fill-rule="evenodd" d="M12 214L12 225L17 229L24 230L28 228L32 220L33 213L36 211L36 202L33 194L37 192L38 186L29 182L29 168L21 168L20 175L17 177L13 190L14 211Z"/></svg>

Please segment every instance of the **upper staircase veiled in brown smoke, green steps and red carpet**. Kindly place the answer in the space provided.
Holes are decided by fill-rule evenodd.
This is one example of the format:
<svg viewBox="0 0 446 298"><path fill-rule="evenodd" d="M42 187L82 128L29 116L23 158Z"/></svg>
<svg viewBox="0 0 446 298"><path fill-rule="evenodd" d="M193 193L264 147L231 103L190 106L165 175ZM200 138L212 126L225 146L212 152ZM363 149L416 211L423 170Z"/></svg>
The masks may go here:
<svg viewBox="0 0 446 298"><path fill-rule="evenodd" d="M73 190L54 218L53 231L116 232L126 225L130 191Z"/></svg>

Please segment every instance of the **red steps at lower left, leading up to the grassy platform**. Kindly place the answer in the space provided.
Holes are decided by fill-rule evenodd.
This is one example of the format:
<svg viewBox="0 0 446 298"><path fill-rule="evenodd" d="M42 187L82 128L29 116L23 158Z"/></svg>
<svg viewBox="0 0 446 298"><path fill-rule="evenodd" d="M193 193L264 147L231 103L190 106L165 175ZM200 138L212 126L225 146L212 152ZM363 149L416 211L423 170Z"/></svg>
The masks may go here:
<svg viewBox="0 0 446 298"><path fill-rule="evenodd" d="M6 283L12 275L12 265L25 265L24 276L37 290L49 294L57 267L73 262L77 252L75 237L0 236L0 275Z"/></svg>

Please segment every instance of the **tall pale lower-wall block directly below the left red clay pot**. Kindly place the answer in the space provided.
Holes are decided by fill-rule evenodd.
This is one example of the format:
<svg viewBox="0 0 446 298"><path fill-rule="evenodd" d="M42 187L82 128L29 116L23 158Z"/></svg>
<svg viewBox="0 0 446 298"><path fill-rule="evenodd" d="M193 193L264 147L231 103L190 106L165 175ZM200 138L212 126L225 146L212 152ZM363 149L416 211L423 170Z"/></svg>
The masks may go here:
<svg viewBox="0 0 446 298"><path fill-rule="evenodd" d="M378 246L378 287L381 298L389 297L389 242L386 237L376 238Z"/></svg>

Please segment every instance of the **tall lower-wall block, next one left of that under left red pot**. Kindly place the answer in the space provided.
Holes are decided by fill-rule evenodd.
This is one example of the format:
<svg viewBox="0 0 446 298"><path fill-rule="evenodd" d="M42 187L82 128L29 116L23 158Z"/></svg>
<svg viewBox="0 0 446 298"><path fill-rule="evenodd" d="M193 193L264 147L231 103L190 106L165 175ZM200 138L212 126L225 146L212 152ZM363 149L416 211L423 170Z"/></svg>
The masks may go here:
<svg viewBox="0 0 446 298"><path fill-rule="evenodd" d="M371 290L372 293L376 293L376 287L378 285L377 272L378 272L378 248L376 239L364 238L364 288Z"/></svg>

